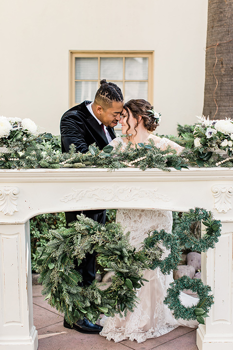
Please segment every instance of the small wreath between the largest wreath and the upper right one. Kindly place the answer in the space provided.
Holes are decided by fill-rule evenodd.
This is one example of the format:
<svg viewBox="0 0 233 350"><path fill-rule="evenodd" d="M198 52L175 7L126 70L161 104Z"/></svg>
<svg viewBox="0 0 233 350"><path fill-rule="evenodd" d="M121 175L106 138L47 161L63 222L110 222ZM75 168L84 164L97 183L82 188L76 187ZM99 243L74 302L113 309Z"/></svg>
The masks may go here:
<svg viewBox="0 0 233 350"><path fill-rule="evenodd" d="M160 267L161 272L164 275L167 275L171 272L171 270L175 269L180 262L182 247L177 235L167 233L164 229L162 229L160 232L154 230L152 235L149 235L144 240L146 251L149 251L150 247L156 246L159 242L162 242L162 245L165 246L166 249L169 249L170 252L163 260L161 260L159 257L153 257L153 259L150 260L149 266L151 270L154 270L156 267Z"/></svg>

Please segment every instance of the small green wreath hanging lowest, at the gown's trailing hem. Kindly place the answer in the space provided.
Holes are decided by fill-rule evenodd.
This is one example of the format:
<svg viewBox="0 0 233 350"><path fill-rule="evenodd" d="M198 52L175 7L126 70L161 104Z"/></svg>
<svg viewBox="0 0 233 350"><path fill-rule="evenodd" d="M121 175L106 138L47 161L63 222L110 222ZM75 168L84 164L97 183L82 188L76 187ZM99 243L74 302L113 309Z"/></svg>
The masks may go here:
<svg viewBox="0 0 233 350"><path fill-rule="evenodd" d="M198 294L199 302L197 305L186 307L182 304L179 296L183 289L191 289ZM209 285L204 285L202 280L192 280L188 276L183 276L170 283L170 287L167 289L167 294L164 299L164 304L173 311L173 315L176 319L197 319L198 322L204 324L204 317L208 317L207 312L214 303L213 295L209 295L210 291L211 287Z"/></svg>

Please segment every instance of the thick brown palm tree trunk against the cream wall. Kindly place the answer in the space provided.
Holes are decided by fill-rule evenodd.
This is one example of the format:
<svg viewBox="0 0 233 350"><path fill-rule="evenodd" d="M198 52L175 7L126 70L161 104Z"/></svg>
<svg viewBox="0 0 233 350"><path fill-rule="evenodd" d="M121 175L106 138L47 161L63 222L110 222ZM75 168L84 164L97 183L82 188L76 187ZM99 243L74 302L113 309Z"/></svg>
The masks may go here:
<svg viewBox="0 0 233 350"><path fill-rule="evenodd" d="M203 114L233 118L233 0L208 0Z"/></svg>

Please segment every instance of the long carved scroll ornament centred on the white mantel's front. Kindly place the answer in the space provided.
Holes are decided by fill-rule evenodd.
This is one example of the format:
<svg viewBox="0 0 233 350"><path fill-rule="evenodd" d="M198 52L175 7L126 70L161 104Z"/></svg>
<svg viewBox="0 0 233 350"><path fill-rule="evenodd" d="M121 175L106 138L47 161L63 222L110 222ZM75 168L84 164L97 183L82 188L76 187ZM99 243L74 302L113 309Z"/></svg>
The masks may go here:
<svg viewBox="0 0 233 350"><path fill-rule="evenodd" d="M170 201L166 195L158 193L158 189L150 190L142 190L140 187L95 187L88 190L74 190L73 193L65 195L61 198L61 202L75 201L78 202L83 198L91 198L95 202L96 201L104 201L104 202L118 202L124 201L128 202L131 200L138 200L140 198L150 198L150 199L161 199L164 202Z"/></svg>

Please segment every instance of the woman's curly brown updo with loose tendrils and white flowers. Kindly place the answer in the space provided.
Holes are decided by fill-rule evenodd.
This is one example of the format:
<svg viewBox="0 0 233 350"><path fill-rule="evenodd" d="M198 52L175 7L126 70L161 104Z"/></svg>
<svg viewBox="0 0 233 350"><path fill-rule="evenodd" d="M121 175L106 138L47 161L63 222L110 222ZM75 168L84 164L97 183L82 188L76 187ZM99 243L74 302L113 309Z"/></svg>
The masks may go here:
<svg viewBox="0 0 233 350"><path fill-rule="evenodd" d="M134 126L135 131L139 123L139 116L142 117L143 124L148 131L154 131L156 127L159 125L158 119L155 118L155 115L154 115L153 106L150 105L150 102L146 100L143 100L143 99L130 100L125 103L124 108L127 112L126 123L128 124L128 130L130 129L130 125L128 123L128 120L130 117L129 110L132 112L133 118L137 120L137 123ZM127 135L128 135L128 130L126 131Z"/></svg>

